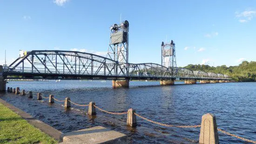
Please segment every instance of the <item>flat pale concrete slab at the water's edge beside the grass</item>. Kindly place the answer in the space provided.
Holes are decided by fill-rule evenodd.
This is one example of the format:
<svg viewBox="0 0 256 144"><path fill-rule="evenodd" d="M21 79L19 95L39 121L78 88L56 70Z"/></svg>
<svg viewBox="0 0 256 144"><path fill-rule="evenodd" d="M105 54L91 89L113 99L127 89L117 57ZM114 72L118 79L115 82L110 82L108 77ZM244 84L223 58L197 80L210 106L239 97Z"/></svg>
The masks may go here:
<svg viewBox="0 0 256 144"><path fill-rule="evenodd" d="M62 134L60 144L127 144L127 135L95 126Z"/></svg>

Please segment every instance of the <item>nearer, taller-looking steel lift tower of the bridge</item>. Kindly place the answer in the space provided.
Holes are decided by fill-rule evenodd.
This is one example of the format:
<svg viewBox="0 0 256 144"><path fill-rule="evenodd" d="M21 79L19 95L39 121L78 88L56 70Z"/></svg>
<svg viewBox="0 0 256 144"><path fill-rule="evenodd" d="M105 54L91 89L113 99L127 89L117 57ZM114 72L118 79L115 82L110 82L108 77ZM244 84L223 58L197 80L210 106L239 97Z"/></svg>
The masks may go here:
<svg viewBox="0 0 256 144"><path fill-rule="evenodd" d="M110 40L108 46L107 58L118 61L121 65L121 70L128 74L128 37L129 23L127 20L117 25L110 27ZM117 72L117 68L115 69Z"/></svg>

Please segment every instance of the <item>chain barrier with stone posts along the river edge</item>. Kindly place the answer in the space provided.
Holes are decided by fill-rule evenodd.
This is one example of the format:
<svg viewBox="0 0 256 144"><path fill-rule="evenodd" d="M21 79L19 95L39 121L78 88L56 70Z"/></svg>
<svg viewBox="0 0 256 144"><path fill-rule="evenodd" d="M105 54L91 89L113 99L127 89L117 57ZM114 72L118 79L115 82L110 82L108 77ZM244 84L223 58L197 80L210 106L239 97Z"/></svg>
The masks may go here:
<svg viewBox="0 0 256 144"><path fill-rule="evenodd" d="M33 98L33 93L31 91L29 91L29 93L26 93L25 90L22 90L20 92L19 87L16 87L16 89L8 87L7 92L20 94L22 96L24 96L26 94L29 94L28 98ZM222 132L226 135L229 135L231 137L236 137L236 138L241 139L243 141L256 144L256 141L249 140L249 139L244 138L244 137L239 137L237 135L231 134L227 131L224 131L222 129L217 128L216 118L213 114L210 114L210 113L207 113L207 114L202 116L201 125L200 124L197 124L197 125L173 125L173 124L163 124L163 123L156 122L156 121L150 120L148 118L142 117L141 115L136 113L136 111L132 108L128 109L127 112L106 111L106 110L96 106L95 102L90 102L88 105L86 105L86 104L77 104L77 103L72 102L69 97L65 98L65 100L59 100L57 98L54 98L54 95L49 95L49 97L43 97L41 93L37 93L37 99L41 100L42 98L45 98L45 99L48 98L49 103L54 103L54 100L56 100L58 102L64 102L64 107L65 108L70 108L71 104L77 105L77 106L88 106L88 115L96 115L96 109L98 109L102 112L108 113L108 114L113 114L113 115L127 114L127 125L130 126L130 127L135 127L137 125L136 116L139 117L139 118L142 118L142 119L144 119L144 120L146 120L150 123L158 124L158 125L162 125L162 126L166 126L166 127L176 127L176 128L198 128L198 127L201 127L200 136L199 136L199 143L200 144L219 144L218 131L220 131L220 132Z"/></svg>

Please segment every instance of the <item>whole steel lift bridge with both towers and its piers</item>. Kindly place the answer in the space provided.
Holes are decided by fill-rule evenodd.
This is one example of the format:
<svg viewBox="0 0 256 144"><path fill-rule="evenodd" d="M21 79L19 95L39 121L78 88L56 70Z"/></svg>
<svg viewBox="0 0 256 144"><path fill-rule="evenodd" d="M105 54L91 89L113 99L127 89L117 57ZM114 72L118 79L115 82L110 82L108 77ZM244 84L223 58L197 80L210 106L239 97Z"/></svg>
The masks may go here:
<svg viewBox="0 0 256 144"><path fill-rule="evenodd" d="M161 65L129 63L128 34L127 20L110 27L107 57L75 51L21 51L12 64L4 65L2 75L5 79L15 79L13 76L22 79L112 79L115 87L128 86L129 80L159 80L161 85L173 84L174 80L185 80L185 83L231 80L224 74L177 68L173 40L167 44L162 42Z"/></svg>

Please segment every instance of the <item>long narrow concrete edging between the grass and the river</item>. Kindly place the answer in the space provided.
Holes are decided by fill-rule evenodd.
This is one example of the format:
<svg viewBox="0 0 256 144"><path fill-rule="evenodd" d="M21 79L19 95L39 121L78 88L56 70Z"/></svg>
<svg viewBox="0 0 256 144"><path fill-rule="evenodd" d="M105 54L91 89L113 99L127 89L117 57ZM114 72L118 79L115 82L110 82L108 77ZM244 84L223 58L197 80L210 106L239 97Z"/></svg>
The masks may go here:
<svg viewBox="0 0 256 144"><path fill-rule="evenodd" d="M61 142L61 135L63 134L61 131L53 128L52 126L32 117L25 111L20 110L19 108L7 103L3 99L0 98L0 103L6 106L7 108L11 109L13 112L17 113L21 118L25 119L29 124L33 125L34 127L40 129L44 133L48 134L49 136L53 137L57 141Z"/></svg>

